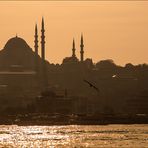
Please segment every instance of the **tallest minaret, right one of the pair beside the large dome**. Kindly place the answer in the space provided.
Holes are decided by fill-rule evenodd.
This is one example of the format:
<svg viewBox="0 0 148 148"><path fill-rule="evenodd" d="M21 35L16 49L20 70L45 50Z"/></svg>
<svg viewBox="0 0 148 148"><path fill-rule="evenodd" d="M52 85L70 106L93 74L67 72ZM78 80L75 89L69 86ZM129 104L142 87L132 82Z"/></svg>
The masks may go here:
<svg viewBox="0 0 148 148"><path fill-rule="evenodd" d="M41 29L41 57L45 60L45 35L44 35L44 18L42 17L42 29Z"/></svg>

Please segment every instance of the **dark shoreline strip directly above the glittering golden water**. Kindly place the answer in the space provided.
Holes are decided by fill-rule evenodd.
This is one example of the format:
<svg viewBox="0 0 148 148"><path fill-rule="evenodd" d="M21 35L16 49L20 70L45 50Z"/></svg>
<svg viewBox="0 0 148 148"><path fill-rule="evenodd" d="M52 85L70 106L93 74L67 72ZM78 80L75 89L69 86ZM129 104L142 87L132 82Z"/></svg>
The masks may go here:
<svg viewBox="0 0 148 148"><path fill-rule="evenodd" d="M54 125L109 125L109 124L148 124L146 116L50 116L50 115L13 115L1 116L0 125L54 126Z"/></svg>

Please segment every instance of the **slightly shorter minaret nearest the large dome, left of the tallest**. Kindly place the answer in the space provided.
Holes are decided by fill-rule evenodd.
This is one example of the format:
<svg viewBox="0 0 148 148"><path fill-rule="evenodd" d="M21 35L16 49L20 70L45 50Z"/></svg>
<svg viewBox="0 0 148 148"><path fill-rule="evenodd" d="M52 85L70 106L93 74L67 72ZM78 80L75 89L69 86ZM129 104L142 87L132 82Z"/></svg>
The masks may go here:
<svg viewBox="0 0 148 148"><path fill-rule="evenodd" d="M36 72L38 72L38 30L37 30L37 24L35 25L34 49L35 49L35 70L36 70Z"/></svg>

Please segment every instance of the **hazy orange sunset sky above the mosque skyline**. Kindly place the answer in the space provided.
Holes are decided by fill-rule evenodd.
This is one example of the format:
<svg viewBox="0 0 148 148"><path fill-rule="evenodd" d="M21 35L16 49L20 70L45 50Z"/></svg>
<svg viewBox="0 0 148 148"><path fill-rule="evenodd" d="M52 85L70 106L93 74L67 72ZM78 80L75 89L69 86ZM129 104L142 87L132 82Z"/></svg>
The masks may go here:
<svg viewBox="0 0 148 148"><path fill-rule="evenodd" d="M148 1L0 1L0 49L16 33L33 48L42 16L50 63L71 56L73 37L79 58L81 32L85 58L148 63Z"/></svg>

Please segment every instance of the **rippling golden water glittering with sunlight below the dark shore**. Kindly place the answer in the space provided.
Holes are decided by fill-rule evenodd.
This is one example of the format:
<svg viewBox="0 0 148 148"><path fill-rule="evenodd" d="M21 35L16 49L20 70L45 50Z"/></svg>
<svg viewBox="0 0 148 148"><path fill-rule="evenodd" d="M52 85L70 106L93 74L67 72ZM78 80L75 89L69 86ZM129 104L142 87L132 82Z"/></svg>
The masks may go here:
<svg viewBox="0 0 148 148"><path fill-rule="evenodd" d="M148 125L0 125L0 147L148 147Z"/></svg>

